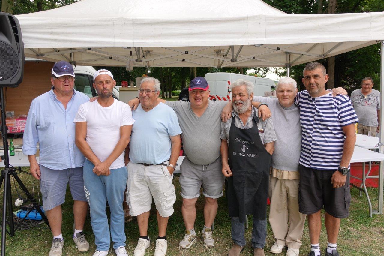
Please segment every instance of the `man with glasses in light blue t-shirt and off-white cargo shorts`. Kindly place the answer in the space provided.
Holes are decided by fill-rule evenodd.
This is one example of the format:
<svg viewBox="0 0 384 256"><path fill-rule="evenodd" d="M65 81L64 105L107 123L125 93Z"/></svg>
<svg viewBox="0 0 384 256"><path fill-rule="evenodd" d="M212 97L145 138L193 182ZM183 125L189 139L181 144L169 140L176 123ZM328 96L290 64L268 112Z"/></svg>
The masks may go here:
<svg viewBox="0 0 384 256"><path fill-rule="evenodd" d="M133 111L135 125L127 159L127 204L130 214L137 216L140 233L134 256L144 256L150 244L148 218L152 197L159 228L154 255L164 256L167 252L168 219L174 213L173 204L176 201L172 174L180 154L181 130L175 111L157 101L159 80L144 78L138 91L140 104Z"/></svg>

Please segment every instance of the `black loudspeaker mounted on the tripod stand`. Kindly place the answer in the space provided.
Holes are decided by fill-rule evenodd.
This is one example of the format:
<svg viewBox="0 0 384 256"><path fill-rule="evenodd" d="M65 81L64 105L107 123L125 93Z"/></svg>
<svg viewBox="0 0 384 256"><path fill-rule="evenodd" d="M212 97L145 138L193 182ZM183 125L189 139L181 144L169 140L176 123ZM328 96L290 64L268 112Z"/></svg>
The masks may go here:
<svg viewBox="0 0 384 256"><path fill-rule="evenodd" d="M0 86L17 87L23 81L24 45L19 21L0 12Z"/></svg>

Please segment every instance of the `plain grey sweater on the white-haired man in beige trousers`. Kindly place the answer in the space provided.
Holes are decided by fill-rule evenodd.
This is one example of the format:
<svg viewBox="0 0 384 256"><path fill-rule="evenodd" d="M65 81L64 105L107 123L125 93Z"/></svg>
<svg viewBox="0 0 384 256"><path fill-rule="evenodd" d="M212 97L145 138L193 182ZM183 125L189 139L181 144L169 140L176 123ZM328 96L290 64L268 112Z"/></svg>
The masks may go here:
<svg viewBox="0 0 384 256"><path fill-rule="evenodd" d="M298 171L301 153L300 110L293 104L285 108L277 98L253 96L253 101L268 104L272 113L276 141L271 165L284 171Z"/></svg>

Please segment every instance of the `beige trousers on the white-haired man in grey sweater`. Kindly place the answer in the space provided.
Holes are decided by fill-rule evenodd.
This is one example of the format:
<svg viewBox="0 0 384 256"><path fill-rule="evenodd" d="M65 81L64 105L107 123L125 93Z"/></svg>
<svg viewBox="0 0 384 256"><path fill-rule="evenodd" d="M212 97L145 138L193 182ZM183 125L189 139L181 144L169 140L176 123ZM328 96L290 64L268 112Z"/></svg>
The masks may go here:
<svg viewBox="0 0 384 256"><path fill-rule="evenodd" d="M269 223L276 243L300 249L306 215L299 212L299 180L283 180L272 175L269 180Z"/></svg>

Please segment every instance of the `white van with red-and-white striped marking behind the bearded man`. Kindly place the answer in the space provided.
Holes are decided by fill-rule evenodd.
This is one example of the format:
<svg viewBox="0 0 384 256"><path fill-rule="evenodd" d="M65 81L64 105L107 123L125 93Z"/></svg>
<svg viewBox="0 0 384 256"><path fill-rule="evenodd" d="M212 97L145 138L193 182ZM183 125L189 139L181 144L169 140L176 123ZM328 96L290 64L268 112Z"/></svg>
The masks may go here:
<svg viewBox="0 0 384 256"><path fill-rule="evenodd" d="M271 91L275 87L275 83L269 78L235 73L207 73L204 78L209 84L210 100L232 100L229 85L238 79L251 81L255 85L255 96L264 96L265 91Z"/></svg>

